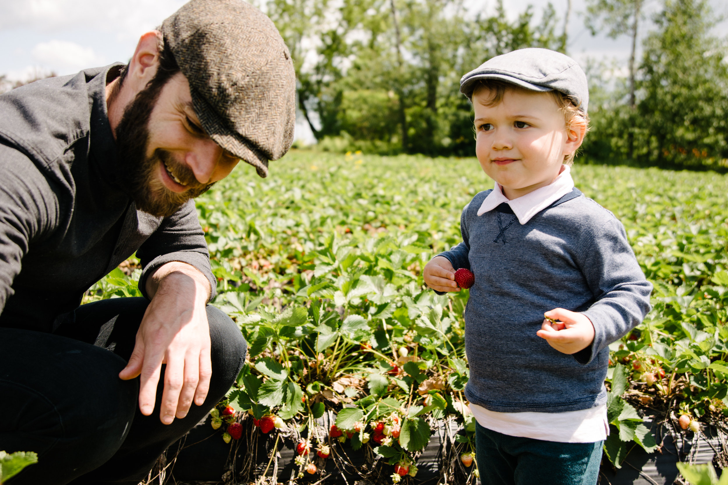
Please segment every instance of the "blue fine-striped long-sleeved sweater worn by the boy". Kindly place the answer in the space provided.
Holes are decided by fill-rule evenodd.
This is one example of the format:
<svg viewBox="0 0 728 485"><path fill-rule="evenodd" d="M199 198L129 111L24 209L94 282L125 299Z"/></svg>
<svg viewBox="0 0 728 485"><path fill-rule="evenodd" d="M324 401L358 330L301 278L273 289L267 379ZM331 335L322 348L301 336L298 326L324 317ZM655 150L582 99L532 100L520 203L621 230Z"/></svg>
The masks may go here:
<svg viewBox="0 0 728 485"><path fill-rule="evenodd" d="M606 401L607 346L650 310L646 280L616 217L576 188L521 225L508 204L461 217L462 243L443 252L475 273L465 308L465 396L496 412L566 412ZM592 345L573 355L538 337L544 312L584 313Z"/></svg>

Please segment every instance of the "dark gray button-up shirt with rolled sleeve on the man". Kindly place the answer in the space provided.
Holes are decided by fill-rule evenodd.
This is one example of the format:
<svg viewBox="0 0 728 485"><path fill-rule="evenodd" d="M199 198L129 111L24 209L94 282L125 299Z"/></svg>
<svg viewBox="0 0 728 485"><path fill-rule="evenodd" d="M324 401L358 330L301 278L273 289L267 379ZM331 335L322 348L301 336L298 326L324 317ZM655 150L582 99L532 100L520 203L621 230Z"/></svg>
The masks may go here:
<svg viewBox="0 0 728 485"><path fill-rule="evenodd" d="M84 292L137 253L146 277L170 261L210 280L194 202L138 211L118 185L106 83L119 64L0 95L0 326L51 332Z"/></svg>

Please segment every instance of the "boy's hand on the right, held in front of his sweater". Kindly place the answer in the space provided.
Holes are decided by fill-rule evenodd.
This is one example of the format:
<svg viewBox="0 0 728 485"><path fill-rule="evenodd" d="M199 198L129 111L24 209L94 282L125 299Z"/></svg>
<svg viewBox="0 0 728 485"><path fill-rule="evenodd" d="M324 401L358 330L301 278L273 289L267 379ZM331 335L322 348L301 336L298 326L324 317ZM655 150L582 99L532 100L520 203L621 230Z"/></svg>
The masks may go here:
<svg viewBox="0 0 728 485"><path fill-rule="evenodd" d="M592 344L594 326L585 314L554 308L544 315L557 322L554 324L544 318L544 323L536 334L546 339L559 352L577 353Z"/></svg>

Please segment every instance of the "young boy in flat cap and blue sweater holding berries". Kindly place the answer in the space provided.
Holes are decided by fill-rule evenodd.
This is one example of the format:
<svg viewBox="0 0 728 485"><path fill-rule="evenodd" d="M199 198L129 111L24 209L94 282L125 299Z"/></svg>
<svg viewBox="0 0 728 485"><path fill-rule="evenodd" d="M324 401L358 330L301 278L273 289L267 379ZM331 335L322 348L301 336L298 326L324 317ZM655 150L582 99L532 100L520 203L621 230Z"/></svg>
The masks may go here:
<svg viewBox="0 0 728 485"><path fill-rule="evenodd" d="M587 132L586 76L566 55L521 49L467 73L460 91L495 188L465 206L462 243L432 258L424 281L455 292L456 269L475 274L465 396L480 479L596 484L609 433L607 345L642 321L652 285L620 221L571 180Z"/></svg>

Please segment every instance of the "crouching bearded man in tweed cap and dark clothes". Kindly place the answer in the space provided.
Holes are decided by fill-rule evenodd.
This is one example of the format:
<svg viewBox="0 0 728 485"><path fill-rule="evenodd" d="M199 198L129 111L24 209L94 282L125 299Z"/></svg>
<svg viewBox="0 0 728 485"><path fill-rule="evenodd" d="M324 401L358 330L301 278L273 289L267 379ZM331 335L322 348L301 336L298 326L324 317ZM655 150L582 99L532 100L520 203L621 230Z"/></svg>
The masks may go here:
<svg viewBox="0 0 728 485"><path fill-rule="evenodd" d="M0 450L10 484L138 484L245 361L191 199L293 139L295 76L242 0L192 0L128 65L0 96ZM80 305L132 254L143 298Z"/></svg>

